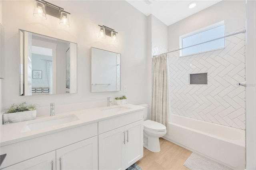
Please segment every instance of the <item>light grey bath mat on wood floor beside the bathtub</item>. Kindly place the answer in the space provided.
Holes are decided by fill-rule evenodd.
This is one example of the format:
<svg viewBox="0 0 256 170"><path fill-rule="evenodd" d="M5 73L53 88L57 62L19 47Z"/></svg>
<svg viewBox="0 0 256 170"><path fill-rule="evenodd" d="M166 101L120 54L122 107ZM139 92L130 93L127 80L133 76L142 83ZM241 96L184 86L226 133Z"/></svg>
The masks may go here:
<svg viewBox="0 0 256 170"><path fill-rule="evenodd" d="M200 154L192 153L183 164L190 170L232 170Z"/></svg>

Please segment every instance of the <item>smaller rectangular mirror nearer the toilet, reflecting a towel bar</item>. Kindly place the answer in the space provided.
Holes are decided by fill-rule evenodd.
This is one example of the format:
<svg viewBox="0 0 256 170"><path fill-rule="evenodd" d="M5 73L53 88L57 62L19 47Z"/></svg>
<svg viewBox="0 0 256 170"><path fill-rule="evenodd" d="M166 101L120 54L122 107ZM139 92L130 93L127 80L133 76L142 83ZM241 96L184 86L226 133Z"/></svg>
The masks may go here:
<svg viewBox="0 0 256 170"><path fill-rule="evenodd" d="M91 47L91 92L120 91L121 54Z"/></svg>

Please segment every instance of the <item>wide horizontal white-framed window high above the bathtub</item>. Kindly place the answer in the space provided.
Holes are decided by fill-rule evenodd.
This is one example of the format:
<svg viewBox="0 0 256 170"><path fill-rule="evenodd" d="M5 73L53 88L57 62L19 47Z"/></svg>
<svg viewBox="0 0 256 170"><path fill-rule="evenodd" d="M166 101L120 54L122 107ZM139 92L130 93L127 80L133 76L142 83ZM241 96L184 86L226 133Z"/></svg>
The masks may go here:
<svg viewBox="0 0 256 170"><path fill-rule="evenodd" d="M181 48L188 47L181 50L180 56L223 48L225 47L224 38L214 40L216 38L220 38L223 36L224 36L224 21L218 22L206 28L202 28L195 32L191 32L189 34L180 36L180 47ZM210 40L214 40L214 41L210 41ZM202 43L202 44L195 45L198 43ZM191 45L194 45L194 46L189 47Z"/></svg>

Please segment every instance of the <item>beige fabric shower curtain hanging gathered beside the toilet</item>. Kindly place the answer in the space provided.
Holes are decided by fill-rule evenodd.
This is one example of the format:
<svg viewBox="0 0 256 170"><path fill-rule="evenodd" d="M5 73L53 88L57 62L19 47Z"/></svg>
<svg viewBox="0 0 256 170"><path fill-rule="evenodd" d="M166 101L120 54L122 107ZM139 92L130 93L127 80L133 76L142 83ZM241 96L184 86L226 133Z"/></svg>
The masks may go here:
<svg viewBox="0 0 256 170"><path fill-rule="evenodd" d="M153 57L154 79L152 96L152 121L168 126L169 69L166 55ZM168 129L168 128L167 128Z"/></svg>

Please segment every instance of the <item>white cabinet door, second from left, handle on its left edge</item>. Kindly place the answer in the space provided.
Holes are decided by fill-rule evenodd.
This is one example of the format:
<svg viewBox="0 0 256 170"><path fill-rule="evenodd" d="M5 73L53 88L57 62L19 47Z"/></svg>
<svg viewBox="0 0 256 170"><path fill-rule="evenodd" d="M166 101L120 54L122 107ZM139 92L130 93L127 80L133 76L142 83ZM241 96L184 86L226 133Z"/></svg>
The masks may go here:
<svg viewBox="0 0 256 170"><path fill-rule="evenodd" d="M56 150L56 169L98 169L98 137L94 136Z"/></svg>

